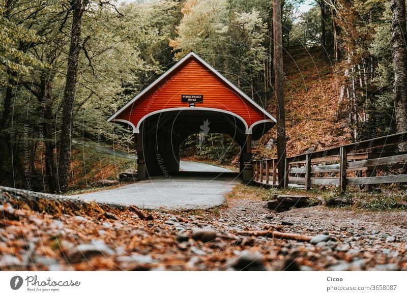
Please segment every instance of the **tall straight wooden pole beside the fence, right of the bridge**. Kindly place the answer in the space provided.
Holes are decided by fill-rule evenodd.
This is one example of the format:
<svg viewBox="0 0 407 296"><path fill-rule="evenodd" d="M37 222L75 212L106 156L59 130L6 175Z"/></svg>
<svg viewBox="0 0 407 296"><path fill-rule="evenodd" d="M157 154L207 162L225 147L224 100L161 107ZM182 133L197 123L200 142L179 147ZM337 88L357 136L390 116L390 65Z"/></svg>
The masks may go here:
<svg viewBox="0 0 407 296"><path fill-rule="evenodd" d="M274 84L277 97L277 158L278 185L282 188L285 182L285 107L283 90L283 47L281 31L281 0L273 0L273 32L274 32Z"/></svg>

